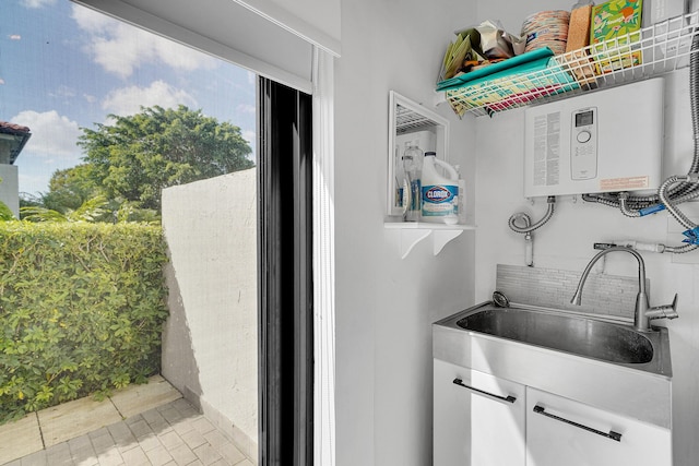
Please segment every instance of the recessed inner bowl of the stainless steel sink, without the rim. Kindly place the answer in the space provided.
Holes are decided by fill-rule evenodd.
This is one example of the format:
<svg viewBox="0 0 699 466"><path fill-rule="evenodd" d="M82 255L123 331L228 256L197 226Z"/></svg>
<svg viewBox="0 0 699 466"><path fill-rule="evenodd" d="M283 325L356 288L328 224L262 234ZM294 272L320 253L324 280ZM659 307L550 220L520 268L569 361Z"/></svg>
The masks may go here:
<svg viewBox="0 0 699 466"><path fill-rule="evenodd" d="M608 362L647 363L653 344L631 327L571 315L488 308L457 322L464 330Z"/></svg>

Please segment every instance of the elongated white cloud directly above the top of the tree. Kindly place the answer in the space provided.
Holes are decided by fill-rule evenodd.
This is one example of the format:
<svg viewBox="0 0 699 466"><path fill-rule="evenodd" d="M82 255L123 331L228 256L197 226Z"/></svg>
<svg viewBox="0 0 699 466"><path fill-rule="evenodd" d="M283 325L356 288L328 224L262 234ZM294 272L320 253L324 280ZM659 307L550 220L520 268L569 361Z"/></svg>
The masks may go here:
<svg viewBox="0 0 699 466"><path fill-rule="evenodd" d="M163 108L177 108L180 104L197 107L197 100L186 91L164 81L154 81L149 87L129 86L111 91L103 100L102 108L108 113L126 117L138 113L141 107L159 105Z"/></svg>

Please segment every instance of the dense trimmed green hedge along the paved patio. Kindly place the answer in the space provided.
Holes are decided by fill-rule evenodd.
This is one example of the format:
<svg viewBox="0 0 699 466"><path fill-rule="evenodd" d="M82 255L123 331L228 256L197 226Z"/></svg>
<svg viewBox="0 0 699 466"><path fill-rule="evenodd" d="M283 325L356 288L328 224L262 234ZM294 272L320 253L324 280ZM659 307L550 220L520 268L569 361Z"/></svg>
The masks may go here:
<svg viewBox="0 0 699 466"><path fill-rule="evenodd" d="M159 226L0 223L0 423L157 373L166 261Z"/></svg>

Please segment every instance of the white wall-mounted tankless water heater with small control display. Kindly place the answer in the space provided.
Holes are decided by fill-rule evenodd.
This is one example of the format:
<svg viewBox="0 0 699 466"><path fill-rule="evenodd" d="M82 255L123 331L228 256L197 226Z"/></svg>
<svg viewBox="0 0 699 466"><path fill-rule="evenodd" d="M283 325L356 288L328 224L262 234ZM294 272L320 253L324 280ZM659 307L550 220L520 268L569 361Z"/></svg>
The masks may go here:
<svg viewBox="0 0 699 466"><path fill-rule="evenodd" d="M663 79L525 110L524 196L661 184Z"/></svg>

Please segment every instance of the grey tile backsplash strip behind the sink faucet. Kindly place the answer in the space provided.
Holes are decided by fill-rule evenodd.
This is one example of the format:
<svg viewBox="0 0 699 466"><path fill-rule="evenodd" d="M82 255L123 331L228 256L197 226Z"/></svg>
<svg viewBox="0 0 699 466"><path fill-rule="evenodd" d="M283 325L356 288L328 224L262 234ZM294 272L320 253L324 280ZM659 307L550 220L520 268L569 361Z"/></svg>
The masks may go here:
<svg viewBox="0 0 699 466"><path fill-rule="evenodd" d="M496 288L511 302L633 319L638 277L591 273L582 289L582 304L573 306L570 299L580 275L582 272L498 264ZM645 287L650 295L648 278Z"/></svg>

